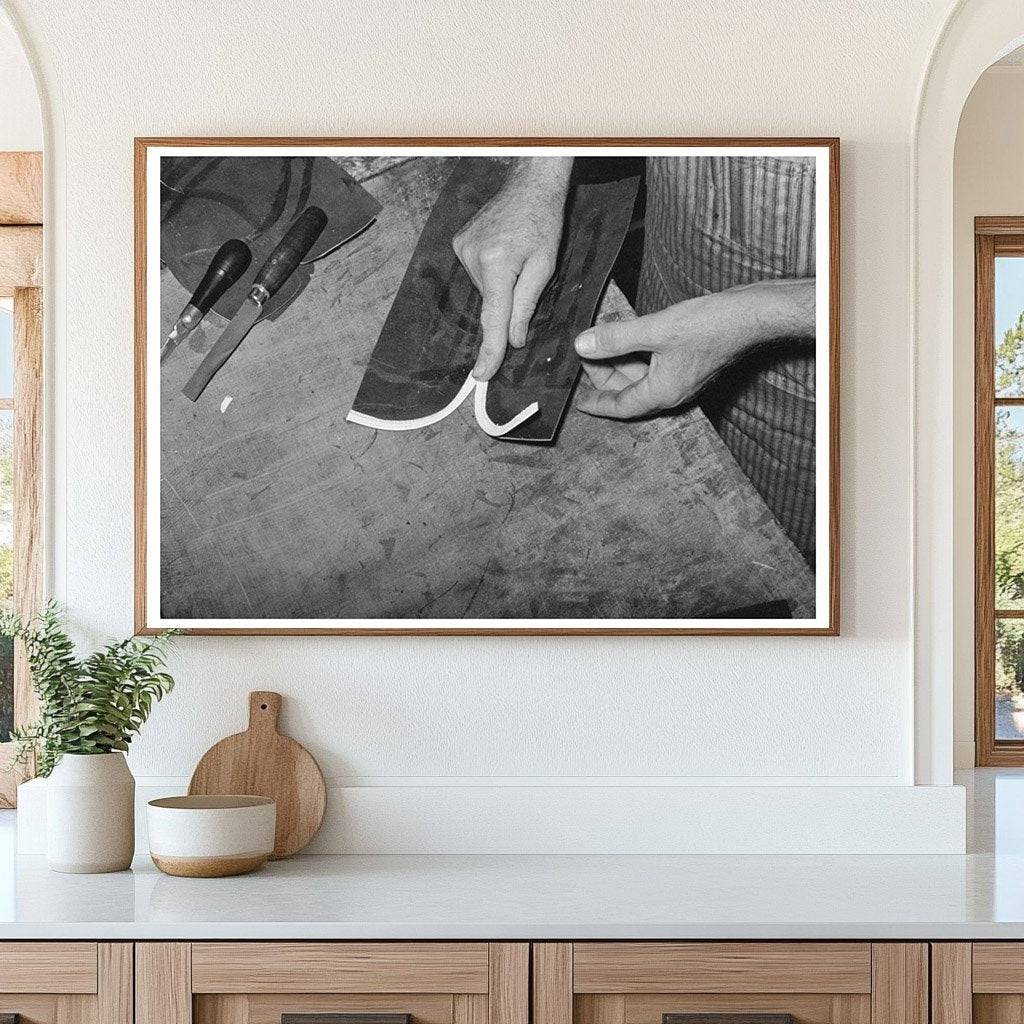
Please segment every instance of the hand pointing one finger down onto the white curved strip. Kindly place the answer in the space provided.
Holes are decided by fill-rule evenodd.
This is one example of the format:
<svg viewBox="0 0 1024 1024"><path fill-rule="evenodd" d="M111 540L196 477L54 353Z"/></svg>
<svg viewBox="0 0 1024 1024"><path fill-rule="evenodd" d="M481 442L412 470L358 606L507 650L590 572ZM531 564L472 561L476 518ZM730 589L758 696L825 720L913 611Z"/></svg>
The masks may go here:
<svg viewBox="0 0 1024 1024"><path fill-rule="evenodd" d="M477 380L494 377L506 345L526 344L530 317L555 270L571 169L571 158L517 161L501 191L452 243L483 296Z"/></svg>

